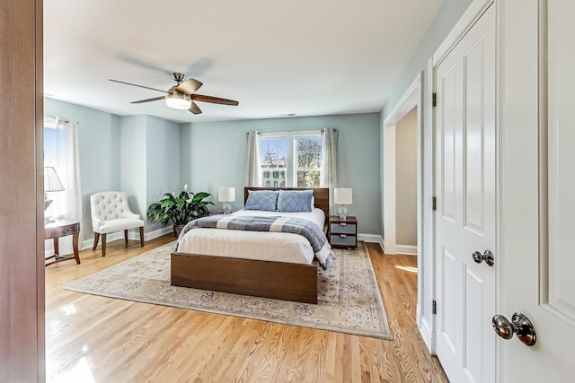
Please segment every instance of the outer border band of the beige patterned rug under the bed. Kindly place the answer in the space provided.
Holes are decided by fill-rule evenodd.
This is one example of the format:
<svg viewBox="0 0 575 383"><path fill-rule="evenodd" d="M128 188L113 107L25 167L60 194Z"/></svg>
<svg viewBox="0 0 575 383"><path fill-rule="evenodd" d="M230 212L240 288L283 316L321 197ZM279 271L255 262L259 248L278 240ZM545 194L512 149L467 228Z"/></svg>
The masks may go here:
<svg viewBox="0 0 575 383"><path fill-rule="evenodd" d="M127 296L126 294L119 294L119 293L114 293L114 292L100 292L100 291L93 290L93 288L89 289L89 288L82 286L83 283L86 283L90 280L93 280L94 278L98 278L102 275L110 274L111 271L114 269L119 269L121 266L125 266L125 265L128 265L130 263L134 263L135 261L137 261L138 258L149 256L150 253L161 252L164 250L164 248L166 251L171 252L171 249L173 248L173 246L174 246L174 242L171 242L171 243L162 245L158 248L146 251L146 253L140 254L136 257L131 257L128 260L120 262L117 265L112 265L112 266L110 266L110 267L108 267L108 268L106 268L106 269L104 269L98 273L91 274L87 277L84 277L83 279L75 281L75 283L70 283L69 285L64 287L64 289L71 291L71 292L86 293L86 294L91 294L91 295L101 296L101 297L106 297L106 298L113 298L113 299L119 299L119 300L131 300L131 301L137 301L140 303L155 304L155 305L160 305L160 306L165 306L165 307L174 307L174 308L178 308L178 309L197 310L197 311L202 311L202 312L208 312L211 314L228 315L228 316L232 316L232 317L236 317L236 318L248 318L248 319L253 319L253 320L261 320L261 321L279 323L279 324L288 325L288 326L301 326L301 327L305 327L305 328L312 328L312 329L324 330L324 331L333 331L333 332L339 332L339 333L350 334L350 335L368 336L368 337L374 337L374 338L385 339L385 340L392 340L393 339L393 337L391 335L391 330L389 328L389 324L387 321L387 314L385 312L385 306L383 303L383 298L381 296L381 292L379 291L379 285L377 283L376 274L374 271L373 264L371 263L371 258L369 257L366 245L360 241L358 241L358 248L355 250L334 249L334 252L337 251L337 252L340 252L341 254L346 254L347 257L349 257L349 253L353 253L354 251L360 251L360 252L364 253L364 257L366 257L366 263L369 265L368 270L367 270L367 273L369 274L369 276L371 278L371 281L369 281L369 282L373 283L373 285L371 286L372 292L375 292L375 294L373 294L374 296L372 297L372 299L374 300L373 304L375 304L377 306L377 309L379 309L380 315L382 316L382 318L380 318L380 319L381 319L381 325L383 327L383 330L370 331L370 330L366 330L366 329L354 329L354 328L349 328L349 327L344 328L341 326L334 326L331 323L324 323L324 322L317 322L317 323L313 323L313 324L312 323L308 324L308 323L296 322L293 319L288 320L288 319L281 319L281 318L264 317L261 313L258 315L258 314L254 314L254 313L234 312L234 311L229 311L229 310L225 310L225 309L210 309L208 307L198 307L196 302L193 302L193 304L196 304L196 306L190 307L190 306L186 306L184 304L178 303L176 301L167 301L165 299L160 300L160 299L154 299L154 298L138 298L138 297ZM328 270L328 272L329 272L329 270ZM146 279L152 280L152 278L146 278ZM168 280L168 282L169 282L169 280ZM258 298L258 297L252 297L252 296L246 296L246 295L238 295L238 294L232 294L232 293L228 293L228 292L209 292L209 291L200 291L199 289L190 289L190 288L186 288L186 287L176 287L176 286L171 286L171 287L176 288L176 289L186 289L188 291L206 292L205 295L216 294L217 296L222 295L225 297L235 297L235 299L239 299L240 301L242 301L242 300L254 300L255 299L255 300L266 300L266 301L275 301L275 302L286 302L286 303L296 304L296 308L299 307L302 309L302 311L305 311L305 309L308 309L309 307L313 307L313 308L321 308L322 307L322 302L318 302L318 304L314 305L314 304L308 304L308 303L291 302L291 301L286 301L286 300L273 300L273 299L269 299L269 298ZM323 304L328 305L329 303L323 303ZM372 313L372 315L373 315L373 313Z"/></svg>

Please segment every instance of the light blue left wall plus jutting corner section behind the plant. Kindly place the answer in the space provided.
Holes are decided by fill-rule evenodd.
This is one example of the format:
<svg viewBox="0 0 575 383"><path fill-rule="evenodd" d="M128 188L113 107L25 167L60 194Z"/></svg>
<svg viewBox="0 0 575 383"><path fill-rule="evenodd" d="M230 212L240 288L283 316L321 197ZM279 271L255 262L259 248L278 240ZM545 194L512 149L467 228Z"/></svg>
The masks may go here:
<svg viewBox="0 0 575 383"><path fill-rule="evenodd" d="M78 125L83 220L82 239L93 239L90 196L104 190L128 195L130 209L146 217L147 206L180 182L180 124L151 116L103 112L45 99L44 113ZM162 227L146 222L146 232Z"/></svg>

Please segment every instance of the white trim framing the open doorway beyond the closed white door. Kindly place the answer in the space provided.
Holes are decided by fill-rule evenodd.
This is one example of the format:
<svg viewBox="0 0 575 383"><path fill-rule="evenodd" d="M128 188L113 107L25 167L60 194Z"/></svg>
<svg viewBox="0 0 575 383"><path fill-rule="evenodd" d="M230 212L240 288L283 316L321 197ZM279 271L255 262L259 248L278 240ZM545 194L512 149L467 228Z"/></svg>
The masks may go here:
<svg viewBox="0 0 575 383"><path fill-rule="evenodd" d="M423 158L423 73L420 72L415 76L411 85L403 93L403 96L394 105L394 108L389 113L384 121L384 245L385 254L394 255L411 254L417 257L418 268L421 265L422 251L421 244L423 243L423 173L422 173L422 158ZM410 251L405 251L406 248L398 246L395 239L395 126L402 120L413 108L417 108L417 247L409 248ZM422 273L418 272L417 277L417 310L416 321L420 327L421 332L421 301L423 294L423 278Z"/></svg>

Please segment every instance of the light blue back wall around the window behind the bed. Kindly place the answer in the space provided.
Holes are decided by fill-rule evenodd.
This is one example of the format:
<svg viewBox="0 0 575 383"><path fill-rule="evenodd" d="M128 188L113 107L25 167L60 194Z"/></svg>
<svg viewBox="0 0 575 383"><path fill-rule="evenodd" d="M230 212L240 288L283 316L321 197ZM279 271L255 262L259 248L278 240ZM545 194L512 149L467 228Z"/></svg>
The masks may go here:
<svg viewBox="0 0 575 383"><path fill-rule="evenodd" d="M358 231L379 234L379 113L272 118L181 124L181 182L192 191L214 195L217 187L235 187L234 210L243 206L246 133L338 129L338 183L353 188L349 214L358 217Z"/></svg>

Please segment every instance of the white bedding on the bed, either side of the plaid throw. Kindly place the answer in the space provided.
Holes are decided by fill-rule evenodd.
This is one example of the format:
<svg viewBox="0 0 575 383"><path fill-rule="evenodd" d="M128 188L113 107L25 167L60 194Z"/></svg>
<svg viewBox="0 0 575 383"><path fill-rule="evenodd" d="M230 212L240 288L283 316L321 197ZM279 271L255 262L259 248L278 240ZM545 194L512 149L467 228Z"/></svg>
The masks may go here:
<svg viewBox="0 0 575 383"><path fill-rule="evenodd" d="M272 215L304 218L323 228L325 215L314 208L310 213L279 213L240 210L234 215ZM237 257L265 261L309 265L314 260L314 250L304 237L268 231L236 231L198 228L187 232L178 245L179 253L217 257Z"/></svg>

